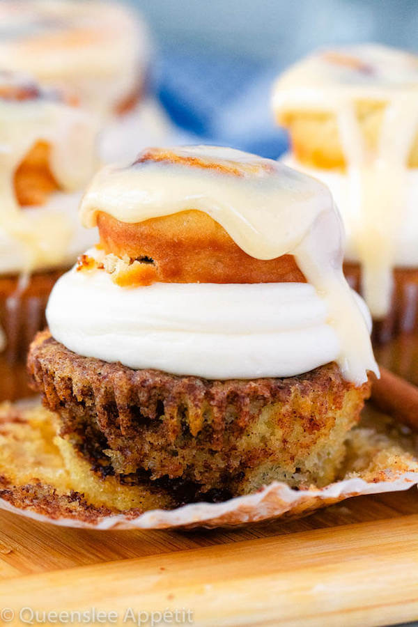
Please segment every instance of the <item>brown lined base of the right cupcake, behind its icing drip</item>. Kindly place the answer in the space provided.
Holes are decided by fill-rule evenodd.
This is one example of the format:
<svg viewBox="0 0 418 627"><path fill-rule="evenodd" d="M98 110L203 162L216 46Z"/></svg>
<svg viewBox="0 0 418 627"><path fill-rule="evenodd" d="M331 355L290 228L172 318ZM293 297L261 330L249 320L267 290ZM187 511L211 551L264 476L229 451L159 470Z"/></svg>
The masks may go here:
<svg viewBox="0 0 418 627"><path fill-rule="evenodd" d="M350 287L361 293L361 268L358 263L344 263ZM374 343L385 343L398 334L418 330L418 269L395 268L394 293L390 311L382 320L373 320Z"/></svg>

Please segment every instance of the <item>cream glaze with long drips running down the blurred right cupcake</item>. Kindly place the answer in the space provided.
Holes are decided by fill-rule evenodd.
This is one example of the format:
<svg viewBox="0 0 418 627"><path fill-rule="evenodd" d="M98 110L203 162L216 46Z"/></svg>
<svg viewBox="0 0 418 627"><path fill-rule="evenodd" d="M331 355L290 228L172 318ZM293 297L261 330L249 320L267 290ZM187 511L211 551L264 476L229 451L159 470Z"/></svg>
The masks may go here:
<svg viewBox="0 0 418 627"><path fill-rule="evenodd" d="M357 120L355 107L362 100L385 103L376 153L365 145ZM418 57L379 45L316 52L279 78L272 106L276 114L335 115L347 164L350 214L355 215L353 246L362 263L362 291L373 316L384 317L392 297L396 242L403 239L401 225L410 199L408 159L418 130ZM413 226L409 220L407 224L408 229ZM410 254L416 267L418 247Z"/></svg>

